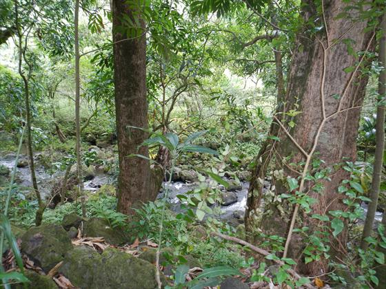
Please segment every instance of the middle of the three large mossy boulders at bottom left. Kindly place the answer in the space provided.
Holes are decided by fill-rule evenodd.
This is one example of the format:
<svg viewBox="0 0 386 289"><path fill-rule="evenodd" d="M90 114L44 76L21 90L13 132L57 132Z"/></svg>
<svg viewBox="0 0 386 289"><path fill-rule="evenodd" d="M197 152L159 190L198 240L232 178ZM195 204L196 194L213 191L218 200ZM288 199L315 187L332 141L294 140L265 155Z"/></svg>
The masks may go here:
<svg viewBox="0 0 386 289"><path fill-rule="evenodd" d="M90 247L79 246L68 251L59 272L79 288L104 288L102 257Z"/></svg>

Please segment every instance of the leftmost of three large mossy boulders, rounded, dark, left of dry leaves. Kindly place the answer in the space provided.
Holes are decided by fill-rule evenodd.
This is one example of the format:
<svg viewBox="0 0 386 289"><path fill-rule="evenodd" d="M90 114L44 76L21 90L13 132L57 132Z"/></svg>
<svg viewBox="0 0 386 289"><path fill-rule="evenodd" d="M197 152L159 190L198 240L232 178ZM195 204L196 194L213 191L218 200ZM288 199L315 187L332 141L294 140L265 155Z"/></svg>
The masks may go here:
<svg viewBox="0 0 386 289"><path fill-rule="evenodd" d="M48 224L30 228L21 237L21 250L35 264L48 272L63 260L65 253L72 249L71 239L62 226Z"/></svg>

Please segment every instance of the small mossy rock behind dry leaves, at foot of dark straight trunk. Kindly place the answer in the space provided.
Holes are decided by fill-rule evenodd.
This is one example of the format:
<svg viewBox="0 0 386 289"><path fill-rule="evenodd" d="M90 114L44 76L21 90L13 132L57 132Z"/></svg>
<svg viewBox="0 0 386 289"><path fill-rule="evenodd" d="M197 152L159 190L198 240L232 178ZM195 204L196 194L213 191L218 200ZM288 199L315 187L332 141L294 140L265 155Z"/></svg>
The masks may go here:
<svg viewBox="0 0 386 289"><path fill-rule="evenodd" d="M87 237L103 237L105 242L119 246L129 242L129 237L120 228L112 228L107 220L93 217L85 222L83 235Z"/></svg>

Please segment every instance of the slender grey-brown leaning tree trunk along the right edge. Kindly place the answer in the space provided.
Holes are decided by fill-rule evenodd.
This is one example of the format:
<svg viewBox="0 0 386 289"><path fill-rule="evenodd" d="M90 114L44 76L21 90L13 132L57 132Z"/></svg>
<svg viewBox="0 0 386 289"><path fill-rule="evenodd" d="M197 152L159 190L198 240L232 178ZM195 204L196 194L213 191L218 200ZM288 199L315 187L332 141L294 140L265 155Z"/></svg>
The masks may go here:
<svg viewBox="0 0 386 289"><path fill-rule="evenodd" d="M386 67L386 14L383 16L383 21L381 25L383 30L383 36L379 42L379 64L382 67ZM369 237L373 231L373 223L376 212L376 207L378 206L378 197L380 189L380 178L382 175L383 168L383 152L385 151L385 105L382 100L386 95L386 71L383 71L379 74L379 83L378 83L378 107L376 109L376 148L375 148L375 159L373 167L373 178L372 178L372 188L370 190L370 199L372 202L369 204L367 210L365 226L363 226L363 235L362 242L360 242L360 248L365 250L369 245L365 238Z"/></svg>

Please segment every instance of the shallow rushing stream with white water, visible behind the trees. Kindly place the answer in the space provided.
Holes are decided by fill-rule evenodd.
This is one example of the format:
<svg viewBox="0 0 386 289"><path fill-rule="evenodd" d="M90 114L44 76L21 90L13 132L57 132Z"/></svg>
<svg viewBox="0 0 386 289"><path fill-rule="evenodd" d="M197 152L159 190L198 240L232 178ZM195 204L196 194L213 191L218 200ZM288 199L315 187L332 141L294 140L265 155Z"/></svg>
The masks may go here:
<svg viewBox="0 0 386 289"><path fill-rule="evenodd" d="M8 167L12 171L14 167L16 156L12 153L0 157L0 165ZM26 160L26 156L21 156L19 160ZM36 168L37 181L41 195L43 198L47 197L50 194L54 181L57 178L60 178L64 175L63 171L57 171L56 173L50 175L45 171L41 166ZM32 187L32 182L30 180L30 168L19 167L17 168L17 184L24 187ZM94 178L92 180L87 180L84 182L84 189L86 191L97 191L103 184L111 183L111 178L109 175L97 170ZM187 193L194 189L196 184L189 182L172 182L170 184L164 183L163 187L168 189L168 202L172 211L180 213L183 211L181 208L181 202L177 195ZM243 217L245 213L245 206L247 202L247 191L248 191L249 182L241 182L241 188L234 191L236 195L236 200L227 206L221 206L222 215L219 217L221 220L229 222L236 226L237 224L243 224ZM163 192L159 193L159 197L163 197ZM364 202L361 204L361 207L365 213L367 213L367 204ZM382 220L383 213L377 211L375 216L374 226L377 226L378 223ZM364 217L363 217L364 220ZM358 220L359 224L363 224L363 220Z"/></svg>

